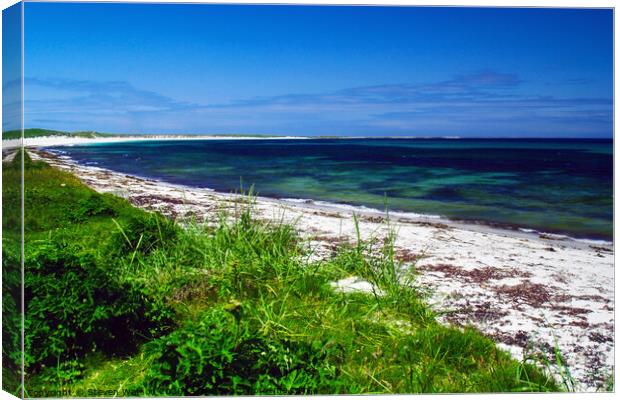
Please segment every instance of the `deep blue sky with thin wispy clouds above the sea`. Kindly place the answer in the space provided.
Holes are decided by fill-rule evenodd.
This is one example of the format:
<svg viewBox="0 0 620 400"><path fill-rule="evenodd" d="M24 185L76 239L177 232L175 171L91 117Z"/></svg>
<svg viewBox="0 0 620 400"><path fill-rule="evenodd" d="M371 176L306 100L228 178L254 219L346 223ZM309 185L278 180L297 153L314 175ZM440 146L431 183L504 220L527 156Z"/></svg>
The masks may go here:
<svg viewBox="0 0 620 400"><path fill-rule="evenodd" d="M611 137L611 10L25 5L26 127Z"/></svg>

